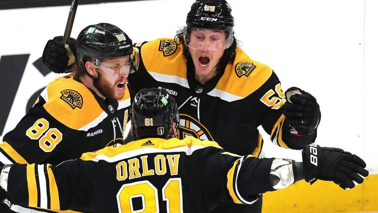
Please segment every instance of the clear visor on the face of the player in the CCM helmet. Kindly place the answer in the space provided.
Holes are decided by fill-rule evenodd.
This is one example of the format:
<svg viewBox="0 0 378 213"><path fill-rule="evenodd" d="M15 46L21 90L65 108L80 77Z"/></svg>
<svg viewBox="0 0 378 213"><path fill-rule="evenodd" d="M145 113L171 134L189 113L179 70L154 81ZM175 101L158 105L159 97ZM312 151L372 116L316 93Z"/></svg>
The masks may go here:
<svg viewBox="0 0 378 213"><path fill-rule="evenodd" d="M216 51L231 46L233 31L203 28L184 28L184 43L197 50Z"/></svg>

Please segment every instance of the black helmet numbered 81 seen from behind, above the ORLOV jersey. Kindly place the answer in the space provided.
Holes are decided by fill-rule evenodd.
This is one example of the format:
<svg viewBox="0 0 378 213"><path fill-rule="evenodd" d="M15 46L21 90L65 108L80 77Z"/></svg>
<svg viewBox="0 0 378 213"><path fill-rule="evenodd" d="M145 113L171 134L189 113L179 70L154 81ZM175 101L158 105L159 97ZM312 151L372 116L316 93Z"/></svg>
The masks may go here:
<svg viewBox="0 0 378 213"><path fill-rule="evenodd" d="M175 99L164 89L141 89L134 98L130 111L135 140L145 138L171 138L172 125L179 124L179 111Z"/></svg>

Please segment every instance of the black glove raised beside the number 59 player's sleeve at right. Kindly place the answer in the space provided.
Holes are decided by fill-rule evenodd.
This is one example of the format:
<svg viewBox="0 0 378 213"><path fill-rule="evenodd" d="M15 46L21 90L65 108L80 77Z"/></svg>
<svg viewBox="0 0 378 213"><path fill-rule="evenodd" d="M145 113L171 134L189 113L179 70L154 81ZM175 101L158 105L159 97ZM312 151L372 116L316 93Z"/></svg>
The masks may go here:
<svg viewBox="0 0 378 213"><path fill-rule="evenodd" d="M320 108L314 96L297 87L285 92L287 102L283 106L285 122L293 135L309 136L320 122Z"/></svg>

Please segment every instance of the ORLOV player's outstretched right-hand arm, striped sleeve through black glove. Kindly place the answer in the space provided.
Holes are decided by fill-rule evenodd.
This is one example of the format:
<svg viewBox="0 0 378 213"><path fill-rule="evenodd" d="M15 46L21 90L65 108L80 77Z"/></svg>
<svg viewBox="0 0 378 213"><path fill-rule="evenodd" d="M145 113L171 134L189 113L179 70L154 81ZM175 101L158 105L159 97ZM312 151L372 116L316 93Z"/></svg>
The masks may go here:
<svg viewBox="0 0 378 213"><path fill-rule="evenodd" d="M215 206L217 202L252 204L260 193L288 187L305 179L333 181L341 188L353 188L363 182L369 172L358 156L339 148L306 145L303 162L288 159L237 156L218 153L207 148L201 162L201 186L204 201ZM223 185L223 187L220 187Z"/></svg>

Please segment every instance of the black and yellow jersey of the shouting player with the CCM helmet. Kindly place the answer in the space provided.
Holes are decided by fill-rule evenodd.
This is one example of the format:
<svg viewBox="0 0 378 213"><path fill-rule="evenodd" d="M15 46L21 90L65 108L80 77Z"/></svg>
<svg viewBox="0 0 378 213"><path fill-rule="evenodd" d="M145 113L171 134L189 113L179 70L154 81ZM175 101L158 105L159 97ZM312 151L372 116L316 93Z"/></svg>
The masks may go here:
<svg viewBox="0 0 378 213"><path fill-rule="evenodd" d="M272 142L285 148L315 139L316 134L296 137L289 133L281 109L286 100L277 75L239 47L234 63L202 85L175 40L162 38L134 46L139 61L138 71L128 77L131 98L141 88L165 88L179 106L179 139L193 136L217 141L229 152L260 157L260 125Z"/></svg>

